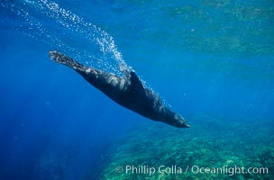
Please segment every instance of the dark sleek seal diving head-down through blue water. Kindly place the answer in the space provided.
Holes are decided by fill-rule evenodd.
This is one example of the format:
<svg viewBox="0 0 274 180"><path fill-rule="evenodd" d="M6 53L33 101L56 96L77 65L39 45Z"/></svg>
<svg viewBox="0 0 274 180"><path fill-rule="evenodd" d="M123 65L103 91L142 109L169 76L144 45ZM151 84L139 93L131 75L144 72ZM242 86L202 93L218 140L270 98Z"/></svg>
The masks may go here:
<svg viewBox="0 0 274 180"><path fill-rule="evenodd" d="M93 67L85 67L73 58L57 51L50 51L49 54L50 58L73 68L88 83L123 107L153 121L162 121L178 128L190 127L181 115L171 111L162 102L158 94L142 85L134 71L127 72L125 76L116 76L113 73L107 73Z"/></svg>

